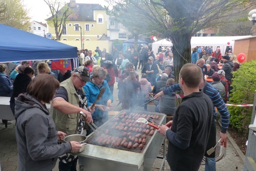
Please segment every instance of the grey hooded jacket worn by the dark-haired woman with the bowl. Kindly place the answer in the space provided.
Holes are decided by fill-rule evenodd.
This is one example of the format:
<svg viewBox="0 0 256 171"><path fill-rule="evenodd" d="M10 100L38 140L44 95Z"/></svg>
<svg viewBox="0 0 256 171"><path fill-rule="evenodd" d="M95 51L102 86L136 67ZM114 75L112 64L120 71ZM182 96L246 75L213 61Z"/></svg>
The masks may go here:
<svg viewBox="0 0 256 171"><path fill-rule="evenodd" d="M57 144L52 115L35 97L22 93L15 104L18 169L52 170L58 156L71 151L71 144Z"/></svg>

